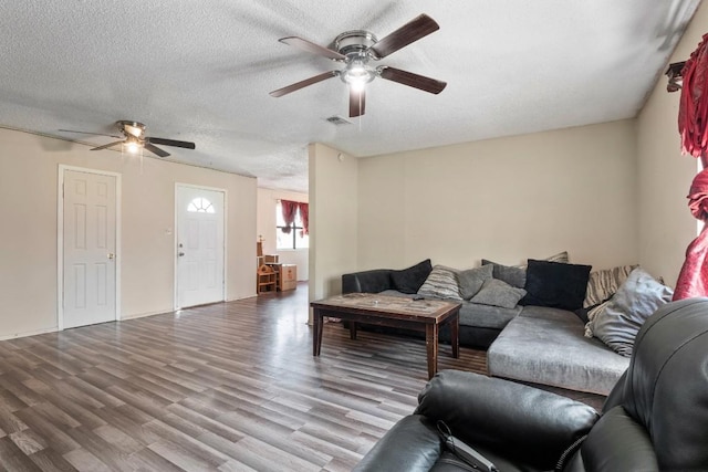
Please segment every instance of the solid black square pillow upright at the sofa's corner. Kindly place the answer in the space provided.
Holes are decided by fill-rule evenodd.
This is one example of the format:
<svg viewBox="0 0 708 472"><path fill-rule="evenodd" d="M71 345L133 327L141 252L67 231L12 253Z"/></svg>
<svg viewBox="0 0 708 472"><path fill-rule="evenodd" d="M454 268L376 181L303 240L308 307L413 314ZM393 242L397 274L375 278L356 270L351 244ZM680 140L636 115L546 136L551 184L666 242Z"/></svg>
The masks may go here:
<svg viewBox="0 0 708 472"><path fill-rule="evenodd" d="M591 269L592 265L529 259L527 296L521 304L570 311L582 308Z"/></svg>

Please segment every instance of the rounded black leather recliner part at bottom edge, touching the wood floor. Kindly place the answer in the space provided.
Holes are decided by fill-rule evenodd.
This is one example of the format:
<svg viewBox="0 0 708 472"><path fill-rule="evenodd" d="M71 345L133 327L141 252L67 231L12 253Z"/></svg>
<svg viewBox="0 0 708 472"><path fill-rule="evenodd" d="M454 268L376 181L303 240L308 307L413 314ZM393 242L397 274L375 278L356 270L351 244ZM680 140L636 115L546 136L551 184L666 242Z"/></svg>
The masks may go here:
<svg viewBox="0 0 708 472"><path fill-rule="evenodd" d="M428 471L440 453L441 443L435 426L419 415L410 415L394 424L354 471Z"/></svg>

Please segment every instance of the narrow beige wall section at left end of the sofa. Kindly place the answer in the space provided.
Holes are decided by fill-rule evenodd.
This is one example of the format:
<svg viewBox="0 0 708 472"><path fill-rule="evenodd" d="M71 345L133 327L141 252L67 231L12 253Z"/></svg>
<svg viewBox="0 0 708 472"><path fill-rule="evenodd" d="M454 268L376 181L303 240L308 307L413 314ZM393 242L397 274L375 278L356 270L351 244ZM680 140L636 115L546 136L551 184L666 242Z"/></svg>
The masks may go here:
<svg viewBox="0 0 708 472"><path fill-rule="evenodd" d="M309 147L310 300L339 294L356 270L357 161L321 144Z"/></svg>

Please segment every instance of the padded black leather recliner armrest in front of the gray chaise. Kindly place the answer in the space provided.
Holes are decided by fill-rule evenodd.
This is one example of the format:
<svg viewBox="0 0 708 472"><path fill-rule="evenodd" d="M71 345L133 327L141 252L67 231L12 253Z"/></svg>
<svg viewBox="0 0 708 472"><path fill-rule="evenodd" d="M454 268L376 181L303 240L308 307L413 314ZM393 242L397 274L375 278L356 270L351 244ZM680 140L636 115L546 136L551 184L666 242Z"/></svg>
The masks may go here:
<svg viewBox="0 0 708 472"><path fill-rule="evenodd" d="M472 373L442 370L420 392L416 413L444 420L452 434L509 459L553 469L600 416L566 397Z"/></svg>

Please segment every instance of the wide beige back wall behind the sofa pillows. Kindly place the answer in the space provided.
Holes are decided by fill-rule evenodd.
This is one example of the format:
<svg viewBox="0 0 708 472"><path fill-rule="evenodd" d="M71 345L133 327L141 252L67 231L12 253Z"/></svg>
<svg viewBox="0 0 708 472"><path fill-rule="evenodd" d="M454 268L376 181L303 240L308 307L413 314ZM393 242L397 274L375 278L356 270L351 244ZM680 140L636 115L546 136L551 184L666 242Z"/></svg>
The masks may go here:
<svg viewBox="0 0 708 472"><path fill-rule="evenodd" d="M635 156L622 120L360 159L357 269L637 263Z"/></svg>

